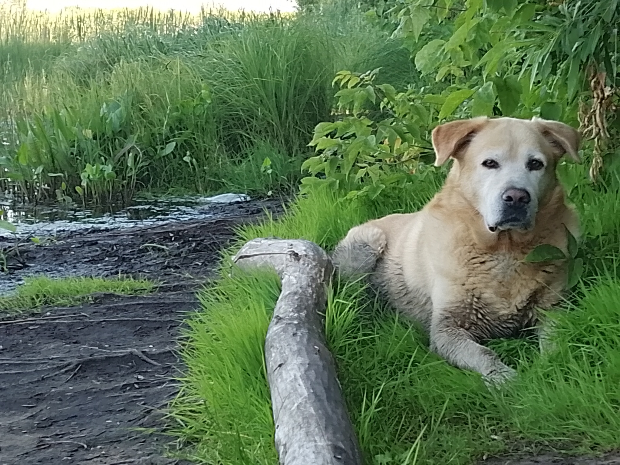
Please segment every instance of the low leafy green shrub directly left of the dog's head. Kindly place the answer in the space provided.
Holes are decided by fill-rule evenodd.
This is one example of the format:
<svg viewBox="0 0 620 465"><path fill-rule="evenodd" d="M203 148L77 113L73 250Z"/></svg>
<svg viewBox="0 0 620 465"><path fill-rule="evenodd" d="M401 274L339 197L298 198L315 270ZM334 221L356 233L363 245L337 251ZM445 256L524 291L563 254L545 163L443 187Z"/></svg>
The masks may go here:
<svg viewBox="0 0 620 465"><path fill-rule="evenodd" d="M420 95L396 92L390 84L375 85L378 72L341 71L335 77L342 119L316 126L310 145L320 154L302 166L311 174L302 179L302 192L325 184L350 196L375 198L386 185L415 172L422 157L432 152L428 144L420 143L430 123ZM378 106L382 116L376 121L368 117L371 105Z"/></svg>

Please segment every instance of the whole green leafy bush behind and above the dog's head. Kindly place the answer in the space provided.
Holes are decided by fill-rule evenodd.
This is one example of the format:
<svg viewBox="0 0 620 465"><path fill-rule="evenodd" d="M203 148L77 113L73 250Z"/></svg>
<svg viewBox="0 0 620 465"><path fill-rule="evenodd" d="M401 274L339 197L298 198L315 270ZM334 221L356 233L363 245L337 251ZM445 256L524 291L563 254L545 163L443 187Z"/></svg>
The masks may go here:
<svg viewBox="0 0 620 465"><path fill-rule="evenodd" d="M374 84L380 70L341 71L340 113L316 126L320 154L304 163L317 184L377 195L428 162L430 130L450 118L539 116L581 123L593 179L617 151L618 2L406 0L376 7L420 72L405 92ZM591 32L591 33L590 33ZM318 175L318 177L317 177Z"/></svg>

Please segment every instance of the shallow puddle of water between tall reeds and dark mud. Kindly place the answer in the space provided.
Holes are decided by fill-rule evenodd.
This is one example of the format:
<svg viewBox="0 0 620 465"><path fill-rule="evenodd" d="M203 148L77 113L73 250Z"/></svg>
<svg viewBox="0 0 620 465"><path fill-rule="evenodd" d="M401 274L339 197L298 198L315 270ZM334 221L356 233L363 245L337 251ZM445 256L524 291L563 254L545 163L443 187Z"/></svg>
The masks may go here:
<svg viewBox="0 0 620 465"><path fill-rule="evenodd" d="M17 231L0 229L0 238L49 237L61 232L110 230L150 226L167 221L195 221L221 214L221 205L249 201L242 194L222 194L215 197L137 198L133 205L110 205L106 210L82 208L80 205L14 205L0 199L0 216L15 225Z"/></svg>

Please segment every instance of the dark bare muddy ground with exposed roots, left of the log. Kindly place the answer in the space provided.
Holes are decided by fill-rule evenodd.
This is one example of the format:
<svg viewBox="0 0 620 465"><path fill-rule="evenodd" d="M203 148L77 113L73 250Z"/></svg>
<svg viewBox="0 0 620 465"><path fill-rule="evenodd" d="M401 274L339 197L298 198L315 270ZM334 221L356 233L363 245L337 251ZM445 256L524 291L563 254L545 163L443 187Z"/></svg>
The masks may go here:
<svg viewBox="0 0 620 465"><path fill-rule="evenodd" d="M174 464L158 410L177 392L179 325L198 302L234 228L266 206L231 206L221 218L87 232L23 247L25 274L140 273L164 280L150 296L103 295L80 307L0 321L0 465Z"/></svg>

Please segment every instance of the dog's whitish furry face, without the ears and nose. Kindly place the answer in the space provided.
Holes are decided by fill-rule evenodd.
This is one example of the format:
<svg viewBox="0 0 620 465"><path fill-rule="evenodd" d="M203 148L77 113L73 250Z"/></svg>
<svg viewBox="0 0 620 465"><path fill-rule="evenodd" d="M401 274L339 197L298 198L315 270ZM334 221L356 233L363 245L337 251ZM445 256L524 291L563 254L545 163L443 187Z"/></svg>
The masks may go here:
<svg viewBox="0 0 620 465"><path fill-rule="evenodd" d="M537 123L515 118L489 120L472 136L457 162L464 194L489 231L533 228L556 169L552 147ZM513 189L525 191L529 202L508 204L506 196Z"/></svg>

